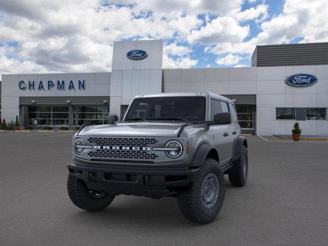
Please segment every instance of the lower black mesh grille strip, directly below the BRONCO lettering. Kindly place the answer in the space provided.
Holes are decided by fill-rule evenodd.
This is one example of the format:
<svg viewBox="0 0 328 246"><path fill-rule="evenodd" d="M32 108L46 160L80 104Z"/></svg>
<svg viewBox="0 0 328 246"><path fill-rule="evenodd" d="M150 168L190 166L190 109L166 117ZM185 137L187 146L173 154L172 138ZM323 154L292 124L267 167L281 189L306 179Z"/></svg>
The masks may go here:
<svg viewBox="0 0 328 246"><path fill-rule="evenodd" d="M158 156L141 150L92 150L90 157L122 158L122 159L155 159Z"/></svg>

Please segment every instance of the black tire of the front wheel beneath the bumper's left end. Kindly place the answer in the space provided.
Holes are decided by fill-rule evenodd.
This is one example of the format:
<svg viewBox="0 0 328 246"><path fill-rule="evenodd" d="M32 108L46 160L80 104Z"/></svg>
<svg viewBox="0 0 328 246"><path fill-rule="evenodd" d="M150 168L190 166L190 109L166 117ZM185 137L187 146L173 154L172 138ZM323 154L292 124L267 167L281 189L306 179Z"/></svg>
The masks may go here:
<svg viewBox="0 0 328 246"><path fill-rule="evenodd" d="M101 197L93 197L90 194L85 181L69 174L67 179L67 192L71 201L76 207L90 212L97 212L106 209L114 200L115 196L103 194Z"/></svg>

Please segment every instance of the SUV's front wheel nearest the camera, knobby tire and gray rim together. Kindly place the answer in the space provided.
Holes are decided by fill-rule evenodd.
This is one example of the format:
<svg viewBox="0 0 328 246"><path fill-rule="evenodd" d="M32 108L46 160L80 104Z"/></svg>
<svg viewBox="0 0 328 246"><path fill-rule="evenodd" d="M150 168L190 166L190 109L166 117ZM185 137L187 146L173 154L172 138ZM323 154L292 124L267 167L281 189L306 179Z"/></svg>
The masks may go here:
<svg viewBox="0 0 328 246"><path fill-rule="evenodd" d="M211 158L200 166L195 182L178 191L183 216L198 223L209 223L219 213L224 200L224 175L219 163Z"/></svg>

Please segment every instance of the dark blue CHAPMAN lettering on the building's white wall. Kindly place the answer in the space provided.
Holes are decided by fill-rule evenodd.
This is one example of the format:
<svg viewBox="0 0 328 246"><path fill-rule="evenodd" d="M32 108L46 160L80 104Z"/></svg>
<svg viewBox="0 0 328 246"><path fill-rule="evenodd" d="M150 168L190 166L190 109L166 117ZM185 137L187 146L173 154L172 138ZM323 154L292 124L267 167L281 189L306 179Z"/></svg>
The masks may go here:
<svg viewBox="0 0 328 246"><path fill-rule="evenodd" d="M48 81L42 81L36 82L34 80L32 81L24 81L20 80L18 82L18 87L20 90L24 91L26 89L31 90L51 90L51 89L57 89L60 90L85 90L86 89L86 80L78 80L77 85L74 85L74 81L70 80L69 82L65 80L57 80L57 82L54 82L52 80Z"/></svg>

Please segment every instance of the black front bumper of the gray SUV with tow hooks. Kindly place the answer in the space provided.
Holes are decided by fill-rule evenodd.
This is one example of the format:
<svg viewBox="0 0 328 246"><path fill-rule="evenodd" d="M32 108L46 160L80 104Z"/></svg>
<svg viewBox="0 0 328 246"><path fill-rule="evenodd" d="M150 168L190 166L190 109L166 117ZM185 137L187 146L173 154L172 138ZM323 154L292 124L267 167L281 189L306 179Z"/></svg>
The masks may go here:
<svg viewBox="0 0 328 246"><path fill-rule="evenodd" d="M133 169L80 163L69 163L67 167L71 175L83 179L91 190L153 198L172 196L175 188L192 183L199 171L198 168Z"/></svg>

